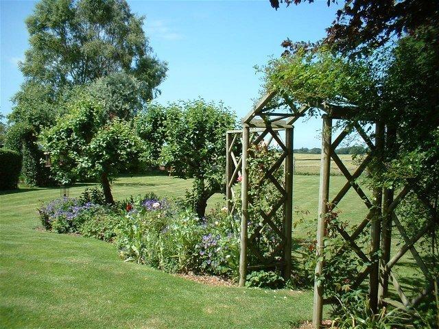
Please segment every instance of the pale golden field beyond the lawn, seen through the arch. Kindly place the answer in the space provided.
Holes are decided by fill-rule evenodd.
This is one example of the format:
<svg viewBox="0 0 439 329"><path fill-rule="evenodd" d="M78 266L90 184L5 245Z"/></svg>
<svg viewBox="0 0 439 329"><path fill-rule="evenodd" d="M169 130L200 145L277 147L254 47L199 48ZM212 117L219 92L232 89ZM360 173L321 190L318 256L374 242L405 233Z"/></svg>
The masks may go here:
<svg viewBox="0 0 439 329"><path fill-rule="evenodd" d="M352 160L351 154L339 154L346 168L353 173L357 169L357 160ZM320 154L294 154L294 173L300 175L319 175L320 174ZM331 175L342 175L337 164L331 160Z"/></svg>

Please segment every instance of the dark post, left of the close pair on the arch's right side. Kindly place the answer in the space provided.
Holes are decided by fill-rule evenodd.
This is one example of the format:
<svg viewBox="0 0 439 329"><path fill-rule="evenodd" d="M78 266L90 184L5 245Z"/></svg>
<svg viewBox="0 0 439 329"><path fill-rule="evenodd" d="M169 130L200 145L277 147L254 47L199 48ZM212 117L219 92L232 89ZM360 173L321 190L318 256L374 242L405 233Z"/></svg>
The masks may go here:
<svg viewBox="0 0 439 329"><path fill-rule="evenodd" d="M381 160L383 151L383 125L375 124L375 147L377 148L377 158ZM380 163L378 165L381 165ZM370 310L377 312L378 307L378 286L379 286L379 240L381 235L381 200L383 197L381 186L375 186L372 192L372 204L374 207L374 215L370 225L370 260L371 269L369 276L369 298Z"/></svg>

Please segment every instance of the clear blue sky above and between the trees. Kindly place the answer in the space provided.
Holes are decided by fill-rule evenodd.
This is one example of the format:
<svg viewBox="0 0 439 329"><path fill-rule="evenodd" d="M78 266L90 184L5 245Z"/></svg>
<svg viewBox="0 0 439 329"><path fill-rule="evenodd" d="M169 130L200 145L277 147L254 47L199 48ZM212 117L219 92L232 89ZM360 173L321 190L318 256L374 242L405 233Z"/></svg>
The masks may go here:
<svg viewBox="0 0 439 329"><path fill-rule="evenodd" d="M268 0L128 2L132 12L146 16L144 30L150 45L169 65L157 101L198 97L224 101L239 118L259 95L261 76L253 66L278 57L287 37L294 41L322 38L337 10L336 5L328 8L326 0L278 11ZM24 20L34 5L35 1L0 1L3 114L11 111L10 98L23 82L17 63L29 47ZM296 123L294 147L320 147L320 125L318 119Z"/></svg>

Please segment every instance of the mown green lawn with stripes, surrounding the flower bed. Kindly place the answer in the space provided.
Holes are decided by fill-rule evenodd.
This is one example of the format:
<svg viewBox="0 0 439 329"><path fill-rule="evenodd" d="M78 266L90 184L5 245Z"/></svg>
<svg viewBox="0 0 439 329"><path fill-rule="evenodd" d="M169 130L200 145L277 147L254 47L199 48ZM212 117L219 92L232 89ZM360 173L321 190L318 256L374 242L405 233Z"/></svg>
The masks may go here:
<svg viewBox="0 0 439 329"><path fill-rule="evenodd" d="M318 176L294 177L294 204L316 218ZM331 191L344 184L333 176ZM119 178L117 199L152 191L184 195L189 180ZM70 189L78 196L86 185ZM21 188L0 195L0 328L294 328L312 317L312 292L209 287L145 265L123 263L109 243L36 230L39 200L56 188ZM215 195L213 206L222 201ZM342 216L359 220L366 207L352 191ZM302 232L294 232L300 237Z"/></svg>

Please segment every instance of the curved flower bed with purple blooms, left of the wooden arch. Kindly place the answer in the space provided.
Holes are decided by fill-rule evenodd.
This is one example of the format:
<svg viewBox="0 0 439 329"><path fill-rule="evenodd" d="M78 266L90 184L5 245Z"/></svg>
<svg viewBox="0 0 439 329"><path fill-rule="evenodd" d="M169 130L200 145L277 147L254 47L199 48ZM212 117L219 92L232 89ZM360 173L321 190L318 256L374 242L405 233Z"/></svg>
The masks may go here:
<svg viewBox="0 0 439 329"><path fill-rule="evenodd" d="M63 197L38 208L46 230L78 233L111 243L121 258L174 273L237 278L239 219L224 209L199 219L191 210L154 194L103 204L99 191Z"/></svg>

